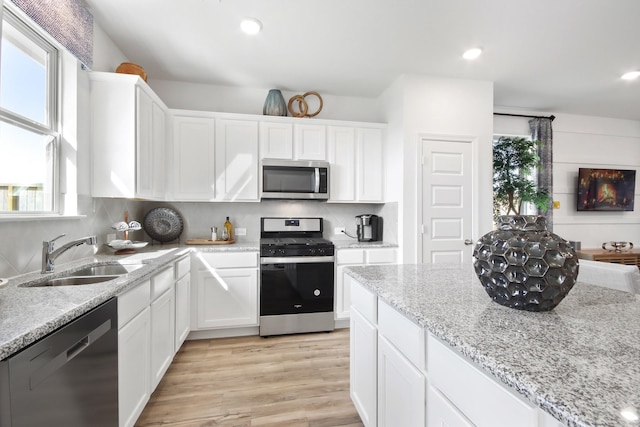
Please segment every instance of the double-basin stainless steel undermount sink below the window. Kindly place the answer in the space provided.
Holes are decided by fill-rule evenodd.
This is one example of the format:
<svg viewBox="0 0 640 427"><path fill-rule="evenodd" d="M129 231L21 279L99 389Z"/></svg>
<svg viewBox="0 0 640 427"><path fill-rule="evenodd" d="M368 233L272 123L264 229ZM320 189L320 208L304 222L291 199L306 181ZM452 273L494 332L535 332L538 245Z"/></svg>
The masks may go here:
<svg viewBox="0 0 640 427"><path fill-rule="evenodd" d="M107 282L127 273L131 273L144 267L144 264L90 264L79 270L69 271L60 276L25 283L21 287L45 287L45 286L77 286L91 285Z"/></svg>

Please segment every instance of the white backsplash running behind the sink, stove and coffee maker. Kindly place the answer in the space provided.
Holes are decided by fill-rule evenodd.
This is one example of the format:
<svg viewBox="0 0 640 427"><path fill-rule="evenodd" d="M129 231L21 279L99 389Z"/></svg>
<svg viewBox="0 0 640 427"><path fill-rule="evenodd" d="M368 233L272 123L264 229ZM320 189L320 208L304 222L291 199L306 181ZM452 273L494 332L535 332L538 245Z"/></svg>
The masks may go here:
<svg viewBox="0 0 640 427"><path fill-rule="evenodd" d="M75 258L92 255L98 248L104 248L107 234L114 233L111 225L122 221L124 212L129 212L130 220L143 222L145 214L154 207L167 206L178 211L184 219L184 232L180 241L208 238L210 228L220 229L227 216L234 228L245 228L246 236L236 236L236 240L258 241L260 238L260 218L267 216L322 217L324 237L332 240L351 240L347 236L334 236L335 227L345 227L347 233L356 233L355 216L376 214L384 220L384 240L397 243L398 205L380 204L332 204L317 201L264 201L261 203L168 203L141 202L121 199L93 199L80 197L78 200L81 218L61 218L46 220L18 220L0 222L0 278L12 277L40 270L42 241L66 234L57 243L95 234L98 246L77 246L62 254L57 263L69 262ZM122 235L118 235L122 238ZM150 241L144 231L131 232L130 239ZM155 243L158 244L158 243ZM109 250L109 249L107 249Z"/></svg>

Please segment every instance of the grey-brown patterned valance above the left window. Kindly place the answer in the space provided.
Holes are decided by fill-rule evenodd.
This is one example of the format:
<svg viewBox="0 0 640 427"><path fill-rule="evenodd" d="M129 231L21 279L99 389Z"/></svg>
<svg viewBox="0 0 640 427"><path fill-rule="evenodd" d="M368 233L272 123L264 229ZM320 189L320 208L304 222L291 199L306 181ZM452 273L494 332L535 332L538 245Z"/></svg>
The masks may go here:
<svg viewBox="0 0 640 427"><path fill-rule="evenodd" d="M93 66L93 15L82 0L11 0L86 67Z"/></svg>

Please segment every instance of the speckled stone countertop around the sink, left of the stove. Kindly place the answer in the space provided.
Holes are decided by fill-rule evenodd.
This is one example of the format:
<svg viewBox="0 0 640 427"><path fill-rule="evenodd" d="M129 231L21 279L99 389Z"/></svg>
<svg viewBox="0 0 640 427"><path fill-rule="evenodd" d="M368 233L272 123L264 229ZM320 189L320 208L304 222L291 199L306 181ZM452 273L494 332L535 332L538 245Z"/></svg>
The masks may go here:
<svg viewBox="0 0 640 427"><path fill-rule="evenodd" d="M258 242L230 245L147 245L132 255L114 255L108 246L93 257L55 266L53 273L39 271L9 278L0 287L0 360L20 351L110 298L142 283L171 262L194 250L201 252L259 251ZM76 286L24 287L44 278L92 263L144 264L117 279Z"/></svg>

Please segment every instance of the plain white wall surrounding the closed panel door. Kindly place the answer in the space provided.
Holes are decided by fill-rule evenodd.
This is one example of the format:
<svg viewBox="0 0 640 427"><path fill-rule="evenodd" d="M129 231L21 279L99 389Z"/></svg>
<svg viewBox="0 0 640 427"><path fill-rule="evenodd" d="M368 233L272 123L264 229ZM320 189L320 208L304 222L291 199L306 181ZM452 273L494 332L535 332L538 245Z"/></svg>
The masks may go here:
<svg viewBox="0 0 640 427"><path fill-rule="evenodd" d="M398 215L404 262L419 261L416 202L421 200L417 194L418 143L421 136L469 136L477 140L474 162L478 166L474 170L477 193L474 194L473 212L476 229L472 238L476 239L490 230L493 199L493 84L405 75L383 94L382 99L390 122L391 145L394 151L402 152L400 158L390 156L389 160L395 164L389 165L389 169L395 169L396 173L402 171L402 174L398 174L402 176L402 186L396 188L402 188Z"/></svg>

